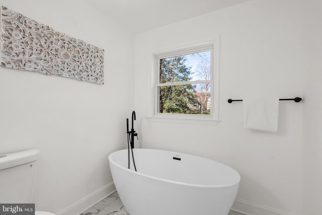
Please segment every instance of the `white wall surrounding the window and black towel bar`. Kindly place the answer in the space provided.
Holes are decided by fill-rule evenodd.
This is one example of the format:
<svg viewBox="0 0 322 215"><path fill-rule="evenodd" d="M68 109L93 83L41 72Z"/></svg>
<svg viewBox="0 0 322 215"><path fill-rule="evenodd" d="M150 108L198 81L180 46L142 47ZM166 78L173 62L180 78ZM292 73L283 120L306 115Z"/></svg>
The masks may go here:
<svg viewBox="0 0 322 215"><path fill-rule="evenodd" d="M303 103L280 102L278 132L272 133L244 129L242 104L226 101L247 96L302 97L302 22L299 0L256 0L136 35L140 145L199 155L233 167L241 175L237 200L244 202L245 212L301 214ZM148 121L153 53L211 40L218 34L222 121L218 125Z"/></svg>

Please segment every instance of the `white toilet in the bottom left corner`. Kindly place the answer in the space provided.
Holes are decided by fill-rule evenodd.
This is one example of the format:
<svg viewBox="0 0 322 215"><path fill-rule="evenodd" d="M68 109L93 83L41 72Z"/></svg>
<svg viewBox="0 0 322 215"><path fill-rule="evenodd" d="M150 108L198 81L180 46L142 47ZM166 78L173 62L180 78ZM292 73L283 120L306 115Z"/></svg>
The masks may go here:
<svg viewBox="0 0 322 215"><path fill-rule="evenodd" d="M0 155L0 203L34 203L33 191L39 150ZM37 205L35 205L37 208ZM35 211L35 215L55 215Z"/></svg>

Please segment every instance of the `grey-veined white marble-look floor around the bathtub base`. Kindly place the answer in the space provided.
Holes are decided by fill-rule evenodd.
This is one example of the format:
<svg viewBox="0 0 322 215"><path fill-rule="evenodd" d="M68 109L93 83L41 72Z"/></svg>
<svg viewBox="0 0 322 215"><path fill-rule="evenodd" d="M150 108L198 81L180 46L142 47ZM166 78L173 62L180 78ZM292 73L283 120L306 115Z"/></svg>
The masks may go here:
<svg viewBox="0 0 322 215"><path fill-rule="evenodd" d="M102 201L95 204L93 207L84 211L80 215L94 215L94 214L95 215L129 215L129 213L125 210L117 191L115 191L108 197L104 198ZM242 215L242 214L234 211L230 211L228 215Z"/></svg>

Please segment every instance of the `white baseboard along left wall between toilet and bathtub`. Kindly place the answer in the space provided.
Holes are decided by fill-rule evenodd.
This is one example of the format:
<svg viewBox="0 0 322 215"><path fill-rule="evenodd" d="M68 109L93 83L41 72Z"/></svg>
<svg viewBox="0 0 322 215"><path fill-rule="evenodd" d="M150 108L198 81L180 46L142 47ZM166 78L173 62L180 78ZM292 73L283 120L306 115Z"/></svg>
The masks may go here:
<svg viewBox="0 0 322 215"><path fill-rule="evenodd" d="M111 193L115 191L114 182L111 182L104 187L96 190L95 192L85 196L79 201L71 204L65 209L60 210L57 215L75 215L81 214L83 211L95 205L97 202L101 201L105 197L109 196Z"/></svg>

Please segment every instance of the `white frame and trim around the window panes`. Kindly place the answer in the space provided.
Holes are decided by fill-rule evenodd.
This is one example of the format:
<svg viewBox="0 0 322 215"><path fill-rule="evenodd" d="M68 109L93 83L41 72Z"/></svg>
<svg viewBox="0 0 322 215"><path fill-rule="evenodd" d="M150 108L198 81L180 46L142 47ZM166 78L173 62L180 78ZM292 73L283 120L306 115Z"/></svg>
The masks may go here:
<svg viewBox="0 0 322 215"><path fill-rule="evenodd" d="M211 51L211 78L209 81L197 80L189 82L178 83L163 83L159 84L159 59L186 55L196 52ZM154 70L153 70L153 115L148 117L150 121L157 122L177 122L177 123L193 123L193 124L209 124L216 125L219 120L219 41L214 40L210 42L190 45L182 48L176 48L169 51L154 53ZM206 114L177 114L177 113L158 113L158 87L167 85L185 85L185 84L203 84L211 83L211 107L210 115Z"/></svg>

